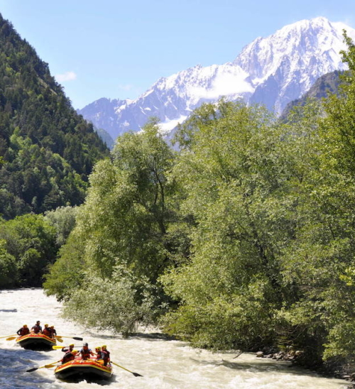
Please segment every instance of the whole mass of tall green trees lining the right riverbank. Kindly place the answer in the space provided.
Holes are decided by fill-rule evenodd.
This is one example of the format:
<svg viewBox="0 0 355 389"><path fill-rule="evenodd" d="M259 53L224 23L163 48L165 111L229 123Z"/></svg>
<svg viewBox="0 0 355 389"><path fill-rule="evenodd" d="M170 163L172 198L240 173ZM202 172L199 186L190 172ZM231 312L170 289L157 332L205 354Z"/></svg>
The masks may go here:
<svg viewBox="0 0 355 389"><path fill-rule="evenodd" d="M180 127L179 153L154 121L119 138L45 283L67 314L124 333L160 319L213 350L284 344L313 362L354 361L355 46L345 39L339 93L287 121L222 100Z"/></svg>

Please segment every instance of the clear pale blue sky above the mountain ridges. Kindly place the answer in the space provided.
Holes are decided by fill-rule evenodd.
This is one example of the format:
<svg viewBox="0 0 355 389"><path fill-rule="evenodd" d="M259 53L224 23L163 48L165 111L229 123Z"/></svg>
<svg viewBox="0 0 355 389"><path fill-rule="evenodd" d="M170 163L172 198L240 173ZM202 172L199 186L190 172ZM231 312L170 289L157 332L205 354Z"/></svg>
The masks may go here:
<svg viewBox="0 0 355 389"><path fill-rule="evenodd" d="M355 27L354 0L0 0L75 108L134 99L159 77L234 60L286 24L325 16Z"/></svg>

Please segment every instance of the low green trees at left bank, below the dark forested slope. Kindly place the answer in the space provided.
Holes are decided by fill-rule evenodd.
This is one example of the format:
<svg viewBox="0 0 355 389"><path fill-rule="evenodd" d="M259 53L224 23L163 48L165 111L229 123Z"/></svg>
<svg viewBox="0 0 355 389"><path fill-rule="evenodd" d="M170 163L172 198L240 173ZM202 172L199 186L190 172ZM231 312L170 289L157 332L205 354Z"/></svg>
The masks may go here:
<svg viewBox="0 0 355 389"><path fill-rule="evenodd" d="M73 207L0 221L0 288L40 287L75 226Z"/></svg>

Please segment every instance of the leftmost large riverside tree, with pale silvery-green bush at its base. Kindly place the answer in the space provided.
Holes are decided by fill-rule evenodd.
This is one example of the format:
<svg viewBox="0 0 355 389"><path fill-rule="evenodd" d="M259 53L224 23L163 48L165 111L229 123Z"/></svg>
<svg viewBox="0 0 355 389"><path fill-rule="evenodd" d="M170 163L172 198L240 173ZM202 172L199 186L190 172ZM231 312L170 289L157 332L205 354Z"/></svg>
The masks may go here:
<svg viewBox="0 0 355 389"><path fill-rule="evenodd" d="M173 262L173 159L153 121L119 138L111 159L95 166L77 225L45 282L48 293L80 307L71 317L129 332L163 307L155 283Z"/></svg>

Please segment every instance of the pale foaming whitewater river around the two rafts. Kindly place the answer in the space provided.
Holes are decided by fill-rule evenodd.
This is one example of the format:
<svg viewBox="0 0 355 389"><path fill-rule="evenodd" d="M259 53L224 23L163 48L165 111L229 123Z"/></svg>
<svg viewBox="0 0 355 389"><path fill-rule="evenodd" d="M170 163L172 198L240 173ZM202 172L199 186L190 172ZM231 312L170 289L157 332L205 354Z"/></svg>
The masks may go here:
<svg viewBox="0 0 355 389"><path fill-rule="evenodd" d="M114 377L109 383L64 383L55 379L54 368L40 368L32 373L26 370L58 361L60 350L31 351L19 347L15 341L0 339L2 361L0 364L0 388L26 389L344 389L346 382L323 378L290 363L276 362L268 358L256 358L254 354L212 354L192 349L182 341L163 339L154 332L142 332L129 339L84 329L60 317L60 303L46 297L41 289L0 291L0 336L16 334L23 324L32 327L37 320L41 324L55 325L58 335L80 336L89 347L107 344L111 360L128 368L133 374L114 367ZM64 339L63 339L64 340ZM81 341L73 341L77 348ZM65 344L72 343L65 339Z"/></svg>

